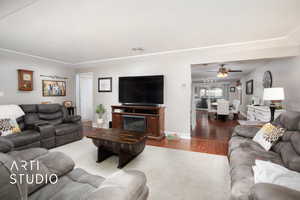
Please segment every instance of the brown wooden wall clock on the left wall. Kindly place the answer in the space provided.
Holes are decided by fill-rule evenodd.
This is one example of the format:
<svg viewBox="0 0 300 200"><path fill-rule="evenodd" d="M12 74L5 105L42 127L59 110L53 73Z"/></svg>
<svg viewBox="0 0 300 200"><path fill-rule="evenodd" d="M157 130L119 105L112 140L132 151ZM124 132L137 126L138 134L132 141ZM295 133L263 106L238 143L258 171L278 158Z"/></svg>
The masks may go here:
<svg viewBox="0 0 300 200"><path fill-rule="evenodd" d="M18 88L20 91L33 90L33 71L18 69Z"/></svg>

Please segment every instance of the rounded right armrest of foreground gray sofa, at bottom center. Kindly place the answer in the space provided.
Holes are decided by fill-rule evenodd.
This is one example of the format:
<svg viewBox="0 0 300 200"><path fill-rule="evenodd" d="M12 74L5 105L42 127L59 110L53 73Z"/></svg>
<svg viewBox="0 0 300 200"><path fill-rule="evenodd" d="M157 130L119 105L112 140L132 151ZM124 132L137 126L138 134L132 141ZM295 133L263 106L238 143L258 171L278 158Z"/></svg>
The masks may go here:
<svg viewBox="0 0 300 200"><path fill-rule="evenodd" d="M136 170L119 171L109 176L85 200L146 200L146 176Z"/></svg>

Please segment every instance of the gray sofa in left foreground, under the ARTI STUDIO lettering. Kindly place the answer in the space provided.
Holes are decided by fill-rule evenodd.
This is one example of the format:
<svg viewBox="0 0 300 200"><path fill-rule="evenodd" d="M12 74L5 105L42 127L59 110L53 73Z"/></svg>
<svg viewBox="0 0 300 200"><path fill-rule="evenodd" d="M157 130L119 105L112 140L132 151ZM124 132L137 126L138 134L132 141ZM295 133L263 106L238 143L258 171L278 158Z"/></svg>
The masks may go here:
<svg viewBox="0 0 300 200"><path fill-rule="evenodd" d="M39 164L31 167L33 160ZM24 161L26 170L21 167ZM24 174L22 178L16 178L20 174ZM44 181L30 184L25 181L27 175L36 174L40 174ZM58 179L54 180L52 174ZM146 200L147 197L146 177L136 170L119 171L104 178L80 168L74 169L71 158L61 152L30 148L0 153L1 200Z"/></svg>

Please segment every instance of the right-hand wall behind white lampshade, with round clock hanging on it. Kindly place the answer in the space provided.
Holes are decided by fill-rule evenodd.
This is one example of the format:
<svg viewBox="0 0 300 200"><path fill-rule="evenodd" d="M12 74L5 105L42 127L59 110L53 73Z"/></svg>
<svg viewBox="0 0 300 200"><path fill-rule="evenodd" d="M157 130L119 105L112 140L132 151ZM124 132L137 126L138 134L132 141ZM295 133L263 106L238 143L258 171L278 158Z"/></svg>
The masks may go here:
<svg viewBox="0 0 300 200"><path fill-rule="evenodd" d="M246 112L246 105L251 103L252 96L263 96L263 75L265 71L271 71L273 77L273 87L283 87L285 90L284 107L287 110L300 111L300 56L292 58L282 58L270 61L254 70L249 75L242 78L243 84L243 105L242 111ZM246 81L253 79L253 95L245 94ZM262 102L263 103L263 102Z"/></svg>

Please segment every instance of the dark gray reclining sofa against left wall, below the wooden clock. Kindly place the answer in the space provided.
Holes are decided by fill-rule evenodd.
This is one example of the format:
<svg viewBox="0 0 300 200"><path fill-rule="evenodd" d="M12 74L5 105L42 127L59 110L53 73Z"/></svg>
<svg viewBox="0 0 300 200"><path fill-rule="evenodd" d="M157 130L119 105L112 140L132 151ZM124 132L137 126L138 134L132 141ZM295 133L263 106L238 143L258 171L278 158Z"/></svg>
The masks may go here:
<svg viewBox="0 0 300 200"><path fill-rule="evenodd" d="M21 133L0 137L0 152L31 147L47 149L80 140L80 116L69 116L60 104L20 105L25 116L17 119Z"/></svg>

